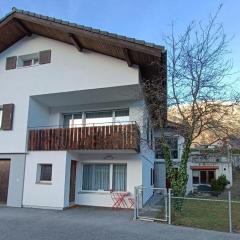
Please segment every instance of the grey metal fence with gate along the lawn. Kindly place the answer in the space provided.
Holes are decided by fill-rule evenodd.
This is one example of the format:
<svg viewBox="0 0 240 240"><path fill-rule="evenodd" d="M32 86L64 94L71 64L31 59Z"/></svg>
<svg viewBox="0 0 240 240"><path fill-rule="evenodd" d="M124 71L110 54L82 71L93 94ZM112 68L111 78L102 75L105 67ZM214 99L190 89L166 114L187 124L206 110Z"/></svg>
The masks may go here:
<svg viewBox="0 0 240 240"><path fill-rule="evenodd" d="M176 197L171 189L137 187L135 193L136 219L240 233L240 201L230 191Z"/></svg>

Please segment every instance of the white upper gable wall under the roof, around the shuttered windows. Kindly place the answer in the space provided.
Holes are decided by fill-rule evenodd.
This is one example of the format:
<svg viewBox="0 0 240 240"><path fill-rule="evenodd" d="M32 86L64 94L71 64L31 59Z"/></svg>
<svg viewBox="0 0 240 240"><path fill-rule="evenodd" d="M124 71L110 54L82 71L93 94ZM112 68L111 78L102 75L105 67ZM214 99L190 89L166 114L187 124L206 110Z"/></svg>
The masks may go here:
<svg viewBox="0 0 240 240"><path fill-rule="evenodd" d="M7 57L47 49L52 50L50 64L5 70ZM128 67L125 61L78 52L62 42L39 36L20 40L0 54L0 105L15 104L13 131L0 131L0 153L25 151L30 96L134 85L139 82L138 75L138 69Z"/></svg>

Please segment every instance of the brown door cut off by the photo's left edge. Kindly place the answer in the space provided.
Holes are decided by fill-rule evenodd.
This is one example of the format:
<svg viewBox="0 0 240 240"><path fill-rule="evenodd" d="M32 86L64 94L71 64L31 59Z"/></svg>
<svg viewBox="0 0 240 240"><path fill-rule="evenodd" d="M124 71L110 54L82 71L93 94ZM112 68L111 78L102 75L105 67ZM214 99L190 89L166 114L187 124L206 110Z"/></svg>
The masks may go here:
<svg viewBox="0 0 240 240"><path fill-rule="evenodd" d="M0 203L7 203L10 160L0 159Z"/></svg>

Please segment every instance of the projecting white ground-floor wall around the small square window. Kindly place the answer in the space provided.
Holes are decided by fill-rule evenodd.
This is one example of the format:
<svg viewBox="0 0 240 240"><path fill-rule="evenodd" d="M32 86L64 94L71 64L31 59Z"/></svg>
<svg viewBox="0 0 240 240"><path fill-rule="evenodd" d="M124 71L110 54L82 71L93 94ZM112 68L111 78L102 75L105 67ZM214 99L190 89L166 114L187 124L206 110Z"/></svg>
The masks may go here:
<svg viewBox="0 0 240 240"><path fill-rule="evenodd" d="M40 208L64 208L67 154L58 152L30 152L26 156L23 206ZM52 183L36 183L37 165L52 164ZM69 193L68 193L69 194Z"/></svg>

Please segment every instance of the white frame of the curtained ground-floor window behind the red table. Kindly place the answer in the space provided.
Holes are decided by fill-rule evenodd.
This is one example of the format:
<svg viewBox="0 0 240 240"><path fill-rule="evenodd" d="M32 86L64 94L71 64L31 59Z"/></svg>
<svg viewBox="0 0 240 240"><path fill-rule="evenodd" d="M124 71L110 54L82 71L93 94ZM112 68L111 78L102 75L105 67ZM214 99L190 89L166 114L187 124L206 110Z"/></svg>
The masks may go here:
<svg viewBox="0 0 240 240"><path fill-rule="evenodd" d="M109 165L109 191L102 191L102 190L98 190L98 191L96 191L96 190L83 190L83 166L84 165L94 165L94 164L107 164L107 165ZM112 191L112 188L113 188L113 165L126 165L126 183L127 183L127 172L128 172L128 166L127 166L127 163L119 163L119 162L117 162L117 163L107 163L107 162L100 162L100 163L98 163L98 162L94 162L94 163L90 163L90 162L84 162L83 164L82 164L82 169L81 169L81 172L82 172L82 174L81 174L81 191L80 192L82 192L82 193L110 193L111 191ZM126 191L127 191L127 184L126 184ZM126 192L126 191L117 191L117 192Z"/></svg>

